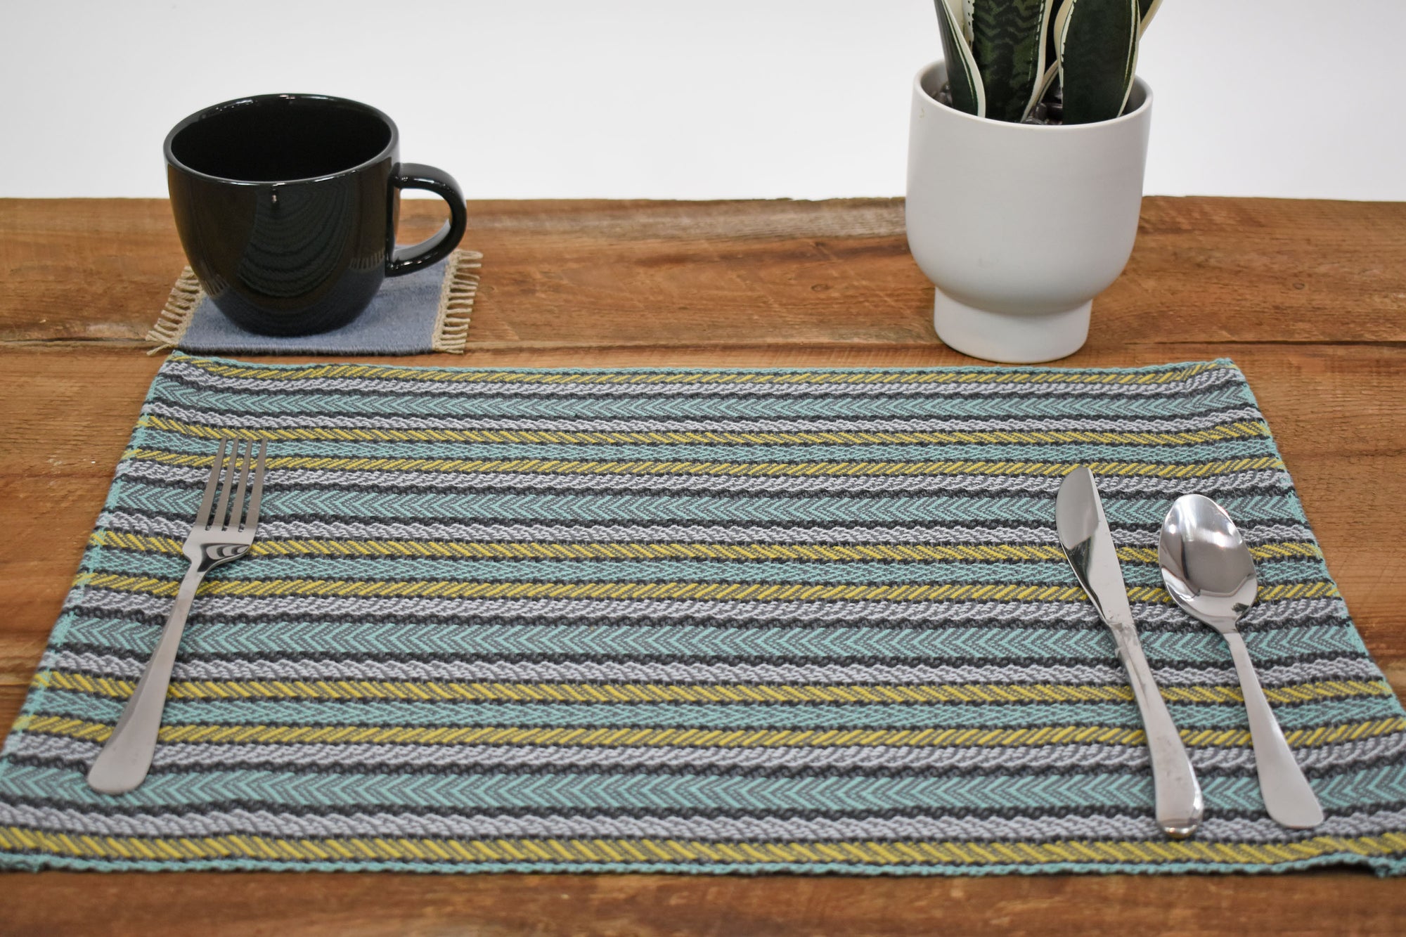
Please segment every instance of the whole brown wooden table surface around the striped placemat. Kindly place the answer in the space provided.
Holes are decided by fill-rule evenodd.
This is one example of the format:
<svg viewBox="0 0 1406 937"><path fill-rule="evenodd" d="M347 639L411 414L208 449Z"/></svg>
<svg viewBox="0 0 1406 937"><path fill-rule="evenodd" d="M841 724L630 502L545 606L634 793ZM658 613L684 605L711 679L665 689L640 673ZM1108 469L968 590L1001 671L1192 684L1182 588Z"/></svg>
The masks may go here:
<svg viewBox="0 0 1406 937"><path fill-rule="evenodd" d="M441 208L439 211L443 211ZM436 205L409 203L402 239ZM470 203L479 366L922 366L896 200ZM165 201L0 200L0 723L17 713L160 356ZM1406 691L1406 204L1147 198L1071 366L1230 356L1367 646ZM384 359L382 359L384 360ZM1406 929L1406 882L668 875L0 875L0 933L912 934Z"/></svg>

